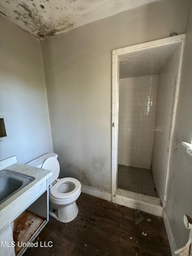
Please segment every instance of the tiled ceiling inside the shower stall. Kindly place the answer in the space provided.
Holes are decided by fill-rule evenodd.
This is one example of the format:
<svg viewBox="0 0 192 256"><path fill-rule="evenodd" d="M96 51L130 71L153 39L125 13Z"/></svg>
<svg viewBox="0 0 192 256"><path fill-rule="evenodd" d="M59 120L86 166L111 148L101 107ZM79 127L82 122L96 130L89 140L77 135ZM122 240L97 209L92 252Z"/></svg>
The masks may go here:
<svg viewBox="0 0 192 256"><path fill-rule="evenodd" d="M159 74L180 43L173 43L120 56L119 78Z"/></svg>

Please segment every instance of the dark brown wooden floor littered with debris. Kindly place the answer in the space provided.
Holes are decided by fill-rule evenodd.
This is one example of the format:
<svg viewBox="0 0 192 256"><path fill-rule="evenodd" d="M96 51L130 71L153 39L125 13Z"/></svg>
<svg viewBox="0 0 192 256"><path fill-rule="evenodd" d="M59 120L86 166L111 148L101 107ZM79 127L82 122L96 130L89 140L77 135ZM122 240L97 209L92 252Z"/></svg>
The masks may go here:
<svg viewBox="0 0 192 256"><path fill-rule="evenodd" d="M25 256L171 256L162 218L140 212L145 218L135 225L135 210L81 194L79 213L66 226L50 217L38 242L53 242L52 248L28 248ZM146 219L151 218L152 222ZM146 236L142 233L147 233Z"/></svg>

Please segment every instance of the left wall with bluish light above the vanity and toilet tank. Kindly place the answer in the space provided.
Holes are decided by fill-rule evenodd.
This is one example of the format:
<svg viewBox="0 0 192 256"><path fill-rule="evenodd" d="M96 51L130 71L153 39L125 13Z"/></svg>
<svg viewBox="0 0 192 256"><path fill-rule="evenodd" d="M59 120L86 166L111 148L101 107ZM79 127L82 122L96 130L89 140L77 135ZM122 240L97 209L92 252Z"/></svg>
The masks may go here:
<svg viewBox="0 0 192 256"><path fill-rule="evenodd" d="M7 131L0 160L16 155L26 163L52 151L41 45L1 15L0 24L0 116Z"/></svg>

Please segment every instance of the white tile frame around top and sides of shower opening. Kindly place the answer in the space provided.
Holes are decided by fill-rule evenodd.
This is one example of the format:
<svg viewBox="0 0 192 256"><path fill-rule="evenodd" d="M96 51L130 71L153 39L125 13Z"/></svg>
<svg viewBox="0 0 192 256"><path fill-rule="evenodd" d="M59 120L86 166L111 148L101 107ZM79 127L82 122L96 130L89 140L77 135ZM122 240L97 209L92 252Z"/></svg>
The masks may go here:
<svg viewBox="0 0 192 256"><path fill-rule="evenodd" d="M178 77L176 82L176 88L173 99L173 112L170 123L170 140L169 140L169 152L167 156L167 167L166 167L166 181L165 181L165 191L164 191L164 202L163 208L165 208L166 198L167 198L167 187L169 181L169 171L170 171L170 159L173 147L173 134L175 130L176 123L176 113L179 98L179 88L182 72L182 61L185 43L185 34L177 35L173 37L163 38L155 41L150 41L142 44L135 44L127 46L124 48L119 48L112 51L112 170L111 170L111 187L112 187L112 202L115 203L115 197L117 194L117 179L118 179L118 133L119 133L119 56L137 52L141 50L146 50L154 47L161 47L167 44L173 44L174 42L181 43L181 53L179 59Z"/></svg>

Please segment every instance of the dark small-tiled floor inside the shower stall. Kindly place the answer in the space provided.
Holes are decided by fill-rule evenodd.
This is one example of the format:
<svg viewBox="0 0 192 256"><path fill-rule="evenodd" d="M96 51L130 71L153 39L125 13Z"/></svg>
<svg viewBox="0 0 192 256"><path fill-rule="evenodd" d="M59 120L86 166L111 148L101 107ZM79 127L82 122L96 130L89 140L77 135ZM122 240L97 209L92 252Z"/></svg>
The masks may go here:
<svg viewBox="0 0 192 256"><path fill-rule="evenodd" d="M118 188L158 197L152 172L148 169L118 164Z"/></svg>

